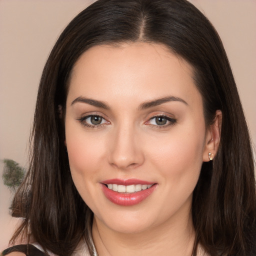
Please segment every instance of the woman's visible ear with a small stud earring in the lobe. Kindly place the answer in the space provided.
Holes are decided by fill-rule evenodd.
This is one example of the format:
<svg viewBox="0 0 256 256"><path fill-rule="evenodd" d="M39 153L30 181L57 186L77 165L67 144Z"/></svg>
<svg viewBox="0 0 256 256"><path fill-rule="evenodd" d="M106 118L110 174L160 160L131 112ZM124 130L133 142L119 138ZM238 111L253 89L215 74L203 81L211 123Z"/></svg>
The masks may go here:
<svg viewBox="0 0 256 256"><path fill-rule="evenodd" d="M202 156L202 161L204 162L212 160L217 152L219 140L220 140L220 134L221 134L221 121L222 121L222 112L221 110L217 110L215 113L215 118L213 123L211 123L206 130L205 145L204 145L204 151ZM210 153L210 157L209 157L209 153Z"/></svg>

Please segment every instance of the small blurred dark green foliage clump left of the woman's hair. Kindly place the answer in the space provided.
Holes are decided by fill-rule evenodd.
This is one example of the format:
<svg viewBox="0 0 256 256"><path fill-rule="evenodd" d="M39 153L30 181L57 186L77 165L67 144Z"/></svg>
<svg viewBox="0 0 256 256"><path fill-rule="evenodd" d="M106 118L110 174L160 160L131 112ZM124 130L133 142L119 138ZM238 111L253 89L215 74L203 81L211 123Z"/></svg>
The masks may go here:
<svg viewBox="0 0 256 256"><path fill-rule="evenodd" d="M25 169L11 159L3 159L3 184L15 192L25 175Z"/></svg>

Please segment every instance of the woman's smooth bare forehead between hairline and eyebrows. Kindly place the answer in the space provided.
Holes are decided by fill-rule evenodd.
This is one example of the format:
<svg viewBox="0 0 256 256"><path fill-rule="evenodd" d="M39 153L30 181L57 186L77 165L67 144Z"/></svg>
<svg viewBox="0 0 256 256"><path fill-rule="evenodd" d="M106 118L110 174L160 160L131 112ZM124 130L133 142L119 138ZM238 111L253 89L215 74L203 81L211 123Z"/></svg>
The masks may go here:
<svg viewBox="0 0 256 256"><path fill-rule="evenodd" d="M73 66L68 97L147 100L166 94L185 97L186 101L194 94L200 98L191 65L162 44L124 43L97 45L85 51Z"/></svg>

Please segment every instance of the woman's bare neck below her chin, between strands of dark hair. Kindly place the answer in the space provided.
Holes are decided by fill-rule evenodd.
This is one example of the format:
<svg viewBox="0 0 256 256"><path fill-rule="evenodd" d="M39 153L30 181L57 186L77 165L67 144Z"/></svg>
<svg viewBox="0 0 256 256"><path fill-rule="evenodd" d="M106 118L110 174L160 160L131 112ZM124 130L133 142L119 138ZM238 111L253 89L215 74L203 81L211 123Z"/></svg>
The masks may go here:
<svg viewBox="0 0 256 256"><path fill-rule="evenodd" d="M137 233L121 233L105 226L94 216L92 237L98 256L191 256L194 229L189 214L172 216L164 223Z"/></svg>

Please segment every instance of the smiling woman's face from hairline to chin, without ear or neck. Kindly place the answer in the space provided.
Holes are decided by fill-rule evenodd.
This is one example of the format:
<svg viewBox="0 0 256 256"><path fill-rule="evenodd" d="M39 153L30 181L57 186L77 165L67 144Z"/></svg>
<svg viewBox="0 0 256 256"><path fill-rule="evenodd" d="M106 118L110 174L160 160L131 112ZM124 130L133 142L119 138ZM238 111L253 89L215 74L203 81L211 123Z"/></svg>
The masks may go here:
<svg viewBox="0 0 256 256"><path fill-rule="evenodd" d="M70 171L106 228L186 224L209 137L192 68L165 46L94 46L74 65L65 115Z"/></svg>

